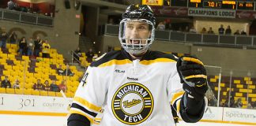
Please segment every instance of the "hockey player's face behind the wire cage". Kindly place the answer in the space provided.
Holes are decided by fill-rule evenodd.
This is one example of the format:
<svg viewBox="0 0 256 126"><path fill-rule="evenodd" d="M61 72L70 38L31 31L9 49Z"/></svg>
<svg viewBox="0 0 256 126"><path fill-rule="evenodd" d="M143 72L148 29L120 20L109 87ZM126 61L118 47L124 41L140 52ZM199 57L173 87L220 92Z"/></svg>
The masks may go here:
<svg viewBox="0 0 256 126"><path fill-rule="evenodd" d="M126 43L130 44L145 44L151 31L149 30L149 24L144 21L127 21L125 28ZM143 40L141 40L143 39Z"/></svg>

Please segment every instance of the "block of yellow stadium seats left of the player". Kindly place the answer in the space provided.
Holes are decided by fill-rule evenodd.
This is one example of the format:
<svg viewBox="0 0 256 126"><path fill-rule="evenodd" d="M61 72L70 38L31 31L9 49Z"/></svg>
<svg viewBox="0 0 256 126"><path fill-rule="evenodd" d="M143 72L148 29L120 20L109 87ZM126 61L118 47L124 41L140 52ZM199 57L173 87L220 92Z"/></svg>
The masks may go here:
<svg viewBox="0 0 256 126"><path fill-rule="evenodd" d="M76 66L70 66L74 76L59 76L56 73L58 65L62 65L62 69L66 69L62 54L58 54L57 50L51 49L51 58L29 58L28 56L18 56L17 44L7 44L6 50L0 50L0 76L4 80L5 76L9 76L9 80L13 86L14 80L20 80L20 89L0 88L0 93L18 94L18 95L43 95L62 97L60 92L52 91L34 91L32 85L37 79L44 83L48 80L56 80L56 84L60 84L62 80L66 80L67 97L73 97L79 84L79 77L83 72L77 71ZM41 55L41 54L40 54ZM88 64L87 64L88 65Z"/></svg>

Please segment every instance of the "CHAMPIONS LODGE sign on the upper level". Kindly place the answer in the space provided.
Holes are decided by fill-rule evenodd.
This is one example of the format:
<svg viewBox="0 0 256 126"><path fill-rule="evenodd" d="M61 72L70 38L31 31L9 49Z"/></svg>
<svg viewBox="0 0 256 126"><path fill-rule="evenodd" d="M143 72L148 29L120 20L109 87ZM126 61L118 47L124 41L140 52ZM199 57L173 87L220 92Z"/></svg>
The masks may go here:
<svg viewBox="0 0 256 126"><path fill-rule="evenodd" d="M235 18L235 10L189 8L188 16Z"/></svg>

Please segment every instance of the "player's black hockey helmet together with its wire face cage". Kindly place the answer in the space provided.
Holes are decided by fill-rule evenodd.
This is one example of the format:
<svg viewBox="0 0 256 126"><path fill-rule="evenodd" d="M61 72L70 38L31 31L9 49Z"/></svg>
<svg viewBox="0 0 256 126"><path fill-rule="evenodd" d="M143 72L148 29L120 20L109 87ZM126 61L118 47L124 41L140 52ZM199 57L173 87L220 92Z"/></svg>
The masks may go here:
<svg viewBox="0 0 256 126"><path fill-rule="evenodd" d="M128 21L138 21L149 24L149 37L147 37L146 39L129 39L129 37L126 36L126 24ZM149 6L128 6L126 12L122 14L122 20L119 24L119 41L122 48L124 48L126 52L130 54L141 54L148 50L155 37L155 25L156 17L154 17L152 9ZM127 43L129 41L131 41L132 43ZM134 41L139 43L134 43ZM142 43L145 41L147 43Z"/></svg>

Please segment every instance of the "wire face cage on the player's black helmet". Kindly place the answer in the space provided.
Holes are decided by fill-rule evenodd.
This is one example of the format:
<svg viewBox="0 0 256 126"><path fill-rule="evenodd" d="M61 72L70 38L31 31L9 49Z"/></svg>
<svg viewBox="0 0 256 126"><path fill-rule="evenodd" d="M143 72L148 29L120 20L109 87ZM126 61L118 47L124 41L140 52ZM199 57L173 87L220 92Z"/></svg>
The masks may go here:
<svg viewBox="0 0 256 126"><path fill-rule="evenodd" d="M146 38L141 38L141 36L137 36L138 38L130 38L130 36L127 35L127 23L131 22L139 22L142 24L149 24L149 34L146 36ZM139 32L139 31L137 31ZM125 18L121 20L119 24L119 41L121 43L121 46L126 52L130 54L141 54L149 49L149 46L154 41L154 35L155 35L155 27L154 24L152 24L151 21L146 19L130 19Z"/></svg>

